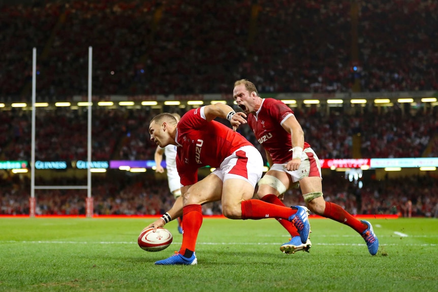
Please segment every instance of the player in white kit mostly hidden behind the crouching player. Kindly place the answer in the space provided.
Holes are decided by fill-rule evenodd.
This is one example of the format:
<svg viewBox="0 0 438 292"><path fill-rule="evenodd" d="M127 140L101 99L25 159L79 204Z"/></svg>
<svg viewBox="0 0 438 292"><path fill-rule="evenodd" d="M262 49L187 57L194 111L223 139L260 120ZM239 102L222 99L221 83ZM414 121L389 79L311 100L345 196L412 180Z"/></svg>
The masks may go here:
<svg viewBox="0 0 438 292"><path fill-rule="evenodd" d="M173 113L172 115L175 117L176 121L179 122L181 116L177 113ZM181 196L181 183L179 180L178 171L176 170L176 146L167 145L164 148L157 146L154 154L155 165L157 166L155 172L164 173L164 168L161 165L161 161L163 161L163 155L166 157L166 171L169 190L176 200L179 196ZM178 217L178 232L182 234L182 216Z"/></svg>

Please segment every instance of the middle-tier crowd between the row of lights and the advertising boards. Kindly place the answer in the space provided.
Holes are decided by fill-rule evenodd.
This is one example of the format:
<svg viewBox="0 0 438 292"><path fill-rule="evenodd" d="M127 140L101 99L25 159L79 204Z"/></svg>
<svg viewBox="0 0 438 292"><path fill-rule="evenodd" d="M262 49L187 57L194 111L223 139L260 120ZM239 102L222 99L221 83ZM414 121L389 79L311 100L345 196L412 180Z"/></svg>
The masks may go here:
<svg viewBox="0 0 438 292"><path fill-rule="evenodd" d="M169 108L183 115L186 109ZM438 107L428 111L398 106L378 112L293 109L305 140L320 158L353 158L354 148L363 158L438 157ZM99 108L92 111L92 160L152 160L150 119L157 109ZM32 121L30 111L3 111L0 115L0 160L30 160ZM228 121L225 121L228 125ZM247 126L240 133L259 148ZM9 139L8 137L12 137ZM87 111L57 108L38 110L36 115L36 160L86 160ZM360 140L353 145L353 140ZM356 157L357 158L357 157Z"/></svg>

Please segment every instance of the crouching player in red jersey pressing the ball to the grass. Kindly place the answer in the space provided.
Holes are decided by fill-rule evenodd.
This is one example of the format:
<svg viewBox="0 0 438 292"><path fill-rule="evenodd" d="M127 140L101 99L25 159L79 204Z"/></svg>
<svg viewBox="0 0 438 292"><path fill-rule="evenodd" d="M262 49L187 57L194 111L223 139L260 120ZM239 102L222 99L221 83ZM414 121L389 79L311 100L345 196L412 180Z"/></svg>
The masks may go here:
<svg viewBox="0 0 438 292"><path fill-rule="evenodd" d="M150 140L160 147L177 146L176 167L180 175L181 197L172 208L147 228L164 226L183 216L184 232L179 252L155 262L156 265L196 265L195 245L202 224L201 205L220 201L224 215L231 219L281 218L293 222L302 242L310 232L307 208L285 207L252 199L263 173L263 158L254 145L220 122L227 118L233 128L246 120L224 104L186 112L177 123L168 113L155 116L149 124ZM198 169L216 168L198 181Z"/></svg>

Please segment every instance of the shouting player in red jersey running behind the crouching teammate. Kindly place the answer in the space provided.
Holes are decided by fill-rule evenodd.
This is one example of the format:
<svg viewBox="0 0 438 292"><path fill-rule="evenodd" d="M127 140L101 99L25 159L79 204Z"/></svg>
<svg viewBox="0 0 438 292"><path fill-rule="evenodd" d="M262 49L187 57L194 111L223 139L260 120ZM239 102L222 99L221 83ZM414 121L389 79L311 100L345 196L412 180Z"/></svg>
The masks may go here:
<svg viewBox="0 0 438 292"><path fill-rule="evenodd" d="M304 201L312 212L349 225L365 239L369 253L376 254L379 240L371 224L359 221L339 205L324 200L318 156L304 141L304 132L293 111L281 101L262 99L256 86L244 79L235 82L233 98L245 113L238 114L247 115L247 123L265 149L271 166L258 183L258 198L284 206L279 197L299 182ZM309 242L299 240L290 222L281 218L278 220L292 237L290 242L280 247L281 251L293 253L310 247Z"/></svg>

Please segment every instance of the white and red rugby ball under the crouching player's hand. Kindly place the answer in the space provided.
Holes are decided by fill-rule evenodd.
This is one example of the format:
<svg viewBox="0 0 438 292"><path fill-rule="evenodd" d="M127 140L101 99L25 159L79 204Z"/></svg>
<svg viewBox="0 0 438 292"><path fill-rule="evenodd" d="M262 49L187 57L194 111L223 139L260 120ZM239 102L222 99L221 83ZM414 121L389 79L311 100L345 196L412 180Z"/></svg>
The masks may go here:
<svg viewBox="0 0 438 292"><path fill-rule="evenodd" d="M138 245L146 251L160 251L167 248L173 240L173 236L165 228L157 228L153 232L153 227L148 228L138 236Z"/></svg>

